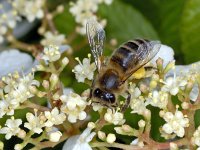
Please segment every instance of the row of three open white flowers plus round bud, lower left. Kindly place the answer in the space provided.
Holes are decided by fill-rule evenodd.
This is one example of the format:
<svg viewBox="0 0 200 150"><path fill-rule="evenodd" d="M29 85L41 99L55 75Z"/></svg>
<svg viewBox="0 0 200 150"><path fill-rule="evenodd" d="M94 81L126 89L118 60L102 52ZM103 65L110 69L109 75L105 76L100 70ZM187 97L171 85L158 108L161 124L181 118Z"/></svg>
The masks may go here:
<svg viewBox="0 0 200 150"><path fill-rule="evenodd" d="M29 129L32 133L40 134L43 132L43 128L46 128L47 131L50 131L49 140L52 142L57 142L62 135L60 131L54 132L53 126L62 124L66 120L66 116L64 113L60 112L57 107L53 108L50 111L45 111L44 113L37 114L38 110L34 110L35 113L27 113L26 119L27 122L24 123L24 127ZM5 126L0 129L0 134L5 134L6 139L10 139L11 136L17 135L20 138L24 138L26 136L25 131L20 129L20 125L22 124L21 119L8 119L6 121ZM56 136L57 139L53 138L52 135Z"/></svg>

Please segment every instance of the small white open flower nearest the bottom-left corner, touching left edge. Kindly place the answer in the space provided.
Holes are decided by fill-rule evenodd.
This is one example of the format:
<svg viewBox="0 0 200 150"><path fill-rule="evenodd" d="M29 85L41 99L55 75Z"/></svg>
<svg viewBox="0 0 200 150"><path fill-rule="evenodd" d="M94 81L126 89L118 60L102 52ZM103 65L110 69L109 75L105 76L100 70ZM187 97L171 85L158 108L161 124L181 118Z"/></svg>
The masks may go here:
<svg viewBox="0 0 200 150"><path fill-rule="evenodd" d="M20 132L19 126L22 124L21 119L14 119L12 117L11 119L8 119L6 121L6 126L0 129L0 134L6 134L6 139L9 140L12 136L17 135Z"/></svg>

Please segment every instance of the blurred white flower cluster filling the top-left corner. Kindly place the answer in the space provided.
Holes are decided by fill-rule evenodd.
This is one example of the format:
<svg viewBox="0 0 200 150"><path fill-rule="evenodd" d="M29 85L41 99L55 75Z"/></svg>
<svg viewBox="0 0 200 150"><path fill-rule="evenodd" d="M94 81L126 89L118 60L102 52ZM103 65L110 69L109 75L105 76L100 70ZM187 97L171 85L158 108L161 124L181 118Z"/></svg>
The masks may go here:
<svg viewBox="0 0 200 150"><path fill-rule="evenodd" d="M29 22L41 19L44 16L43 6L45 0L14 0L6 1L0 5L0 43L8 28L14 29L21 16Z"/></svg>

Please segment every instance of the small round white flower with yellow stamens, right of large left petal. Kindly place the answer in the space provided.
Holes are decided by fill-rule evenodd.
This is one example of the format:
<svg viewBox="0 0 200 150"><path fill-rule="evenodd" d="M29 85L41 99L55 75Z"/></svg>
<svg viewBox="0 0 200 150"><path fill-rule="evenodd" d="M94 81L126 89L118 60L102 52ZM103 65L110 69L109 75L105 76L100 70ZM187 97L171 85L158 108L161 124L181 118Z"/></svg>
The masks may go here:
<svg viewBox="0 0 200 150"><path fill-rule="evenodd" d="M44 55L42 56L42 59L54 62L57 61L61 56L61 53L59 51L59 47L55 45L50 45L48 47L44 48Z"/></svg>

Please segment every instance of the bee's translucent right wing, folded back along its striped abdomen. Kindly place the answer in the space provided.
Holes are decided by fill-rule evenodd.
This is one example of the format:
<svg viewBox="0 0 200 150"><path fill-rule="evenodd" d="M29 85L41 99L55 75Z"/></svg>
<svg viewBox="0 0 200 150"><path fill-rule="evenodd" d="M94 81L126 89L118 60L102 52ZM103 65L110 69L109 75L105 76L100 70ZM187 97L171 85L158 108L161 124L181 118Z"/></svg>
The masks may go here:
<svg viewBox="0 0 200 150"><path fill-rule="evenodd" d="M130 71L126 72L123 82L126 81L134 72L148 63L160 50L161 44L159 41L150 41L145 44L140 44L136 54L134 55Z"/></svg>

